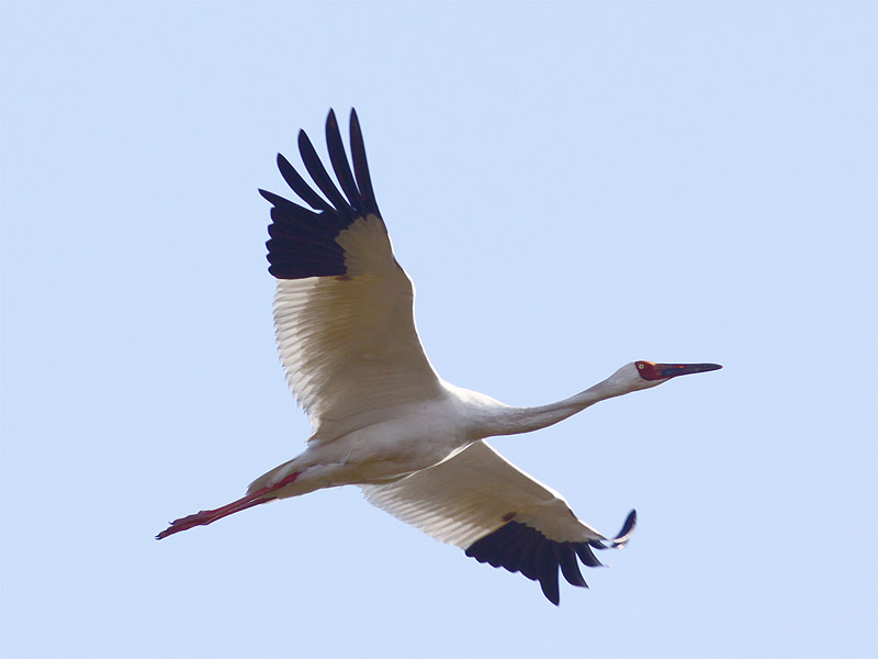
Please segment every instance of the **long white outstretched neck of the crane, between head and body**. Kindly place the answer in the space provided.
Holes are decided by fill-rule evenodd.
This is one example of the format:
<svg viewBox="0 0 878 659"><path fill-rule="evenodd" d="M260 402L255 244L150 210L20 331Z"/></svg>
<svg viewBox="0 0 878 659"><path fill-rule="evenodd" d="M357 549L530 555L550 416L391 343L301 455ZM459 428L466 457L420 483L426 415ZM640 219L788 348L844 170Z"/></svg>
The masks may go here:
<svg viewBox="0 0 878 659"><path fill-rule="evenodd" d="M595 403L622 395L629 391L630 389L622 389L614 382L612 378L608 378L576 395L556 403L537 407L497 407L492 412L491 420L486 424L488 434L485 436L516 435L518 433L538 431L564 421Z"/></svg>

